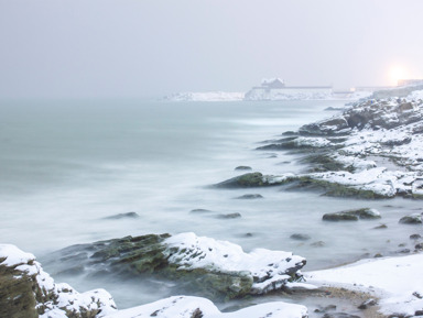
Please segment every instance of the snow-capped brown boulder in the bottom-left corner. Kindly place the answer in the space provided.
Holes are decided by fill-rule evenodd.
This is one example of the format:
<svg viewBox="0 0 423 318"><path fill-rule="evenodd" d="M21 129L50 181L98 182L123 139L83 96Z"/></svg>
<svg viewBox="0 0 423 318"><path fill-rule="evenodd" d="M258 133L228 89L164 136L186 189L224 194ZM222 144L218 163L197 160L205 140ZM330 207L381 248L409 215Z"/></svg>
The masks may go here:
<svg viewBox="0 0 423 318"><path fill-rule="evenodd" d="M34 255L0 244L0 317L91 318L113 311L115 301L106 290L79 294L67 284L56 284Z"/></svg>

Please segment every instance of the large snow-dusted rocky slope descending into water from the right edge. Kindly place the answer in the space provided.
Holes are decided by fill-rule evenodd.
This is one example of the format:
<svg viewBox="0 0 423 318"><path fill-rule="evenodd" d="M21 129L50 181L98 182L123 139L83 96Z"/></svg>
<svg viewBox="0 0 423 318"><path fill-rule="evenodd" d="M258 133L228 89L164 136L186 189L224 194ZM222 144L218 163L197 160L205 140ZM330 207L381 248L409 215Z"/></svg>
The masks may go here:
<svg viewBox="0 0 423 318"><path fill-rule="evenodd" d="M304 174L250 173L217 187L290 185L325 195L360 198L423 198L423 101L366 100L333 118L284 133L258 150L303 155Z"/></svg>

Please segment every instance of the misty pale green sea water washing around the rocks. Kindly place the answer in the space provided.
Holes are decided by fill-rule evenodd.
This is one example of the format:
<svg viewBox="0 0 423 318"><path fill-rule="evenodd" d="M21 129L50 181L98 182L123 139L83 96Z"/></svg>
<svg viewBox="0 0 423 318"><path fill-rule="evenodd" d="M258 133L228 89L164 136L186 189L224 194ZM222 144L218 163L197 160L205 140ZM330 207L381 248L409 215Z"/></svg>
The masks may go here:
<svg viewBox="0 0 423 318"><path fill-rule="evenodd" d="M305 166L286 152L257 151L302 124L327 118L343 101L170 102L140 100L3 101L0 103L0 242L34 253L124 235L192 231L305 256L305 270L412 249L415 226L398 220L420 208L404 199L329 198L280 187L216 189L243 172L278 175ZM241 200L246 194L262 199ZM322 216L376 208L382 219L324 222ZM207 209L209 213L193 213ZM108 219L137 212L137 219ZM219 215L240 213L223 219ZM376 230L380 223L387 229ZM293 233L311 237L300 242ZM399 246L400 244L405 246ZM167 296L153 281L55 276L83 292L105 287L120 308ZM171 283L170 283L171 284Z"/></svg>

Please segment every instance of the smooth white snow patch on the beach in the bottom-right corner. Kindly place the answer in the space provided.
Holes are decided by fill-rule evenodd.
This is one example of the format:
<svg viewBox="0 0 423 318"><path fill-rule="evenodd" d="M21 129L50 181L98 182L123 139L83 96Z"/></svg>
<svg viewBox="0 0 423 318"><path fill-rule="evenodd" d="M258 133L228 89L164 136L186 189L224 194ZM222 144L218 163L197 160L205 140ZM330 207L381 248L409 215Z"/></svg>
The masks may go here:
<svg viewBox="0 0 423 318"><path fill-rule="evenodd" d="M423 254L362 260L333 270L305 274L307 283L371 293L379 311L392 317L423 314Z"/></svg>

